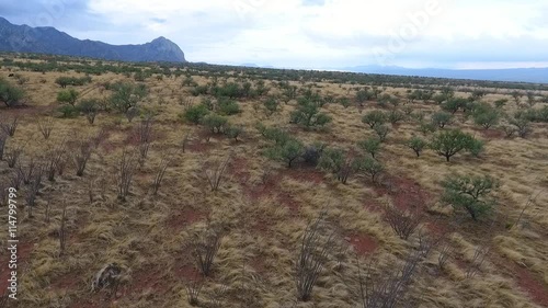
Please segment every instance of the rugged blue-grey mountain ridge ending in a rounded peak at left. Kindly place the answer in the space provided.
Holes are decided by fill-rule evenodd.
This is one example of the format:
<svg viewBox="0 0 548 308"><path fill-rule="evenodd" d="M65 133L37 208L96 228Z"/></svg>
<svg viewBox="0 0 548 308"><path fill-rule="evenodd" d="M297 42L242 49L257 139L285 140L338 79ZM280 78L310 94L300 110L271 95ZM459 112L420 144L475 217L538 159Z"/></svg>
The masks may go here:
<svg viewBox="0 0 548 308"><path fill-rule="evenodd" d="M163 36L142 45L110 45L98 41L81 41L55 27L14 25L3 18L0 18L0 50L136 62L186 61L181 48Z"/></svg>

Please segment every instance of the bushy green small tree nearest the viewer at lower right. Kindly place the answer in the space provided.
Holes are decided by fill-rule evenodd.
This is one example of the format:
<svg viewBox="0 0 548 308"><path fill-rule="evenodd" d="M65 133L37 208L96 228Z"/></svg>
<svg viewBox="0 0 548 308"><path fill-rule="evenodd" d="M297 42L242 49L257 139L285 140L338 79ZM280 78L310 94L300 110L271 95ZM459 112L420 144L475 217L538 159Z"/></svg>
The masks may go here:
<svg viewBox="0 0 548 308"><path fill-rule="evenodd" d="M496 204L492 193L500 184L489 175L449 175L443 182L442 201L455 209L465 209L473 220L489 213Z"/></svg>

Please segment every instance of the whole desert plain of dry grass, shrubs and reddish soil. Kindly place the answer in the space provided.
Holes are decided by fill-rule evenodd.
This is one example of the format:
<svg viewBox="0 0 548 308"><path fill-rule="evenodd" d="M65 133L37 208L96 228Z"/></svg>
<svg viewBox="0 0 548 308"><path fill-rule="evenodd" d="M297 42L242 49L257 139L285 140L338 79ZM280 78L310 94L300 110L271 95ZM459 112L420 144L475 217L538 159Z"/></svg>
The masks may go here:
<svg viewBox="0 0 548 308"><path fill-rule="evenodd" d="M546 306L548 195L522 206L546 182L544 84L0 64L3 84L24 91L9 107L0 99L19 307ZM70 90L75 106L57 104ZM433 124L437 113L450 124Z"/></svg>

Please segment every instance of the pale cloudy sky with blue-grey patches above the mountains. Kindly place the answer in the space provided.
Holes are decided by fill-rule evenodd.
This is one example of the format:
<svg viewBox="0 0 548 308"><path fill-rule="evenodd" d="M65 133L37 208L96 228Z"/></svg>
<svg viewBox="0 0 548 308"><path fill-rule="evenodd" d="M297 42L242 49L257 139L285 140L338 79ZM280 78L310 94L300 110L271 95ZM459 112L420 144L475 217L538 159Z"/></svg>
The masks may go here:
<svg viewBox="0 0 548 308"><path fill-rule="evenodd" d="M110 44L165 36L212 64L548 67L547 0L1 0L0 15Z"/></svg>

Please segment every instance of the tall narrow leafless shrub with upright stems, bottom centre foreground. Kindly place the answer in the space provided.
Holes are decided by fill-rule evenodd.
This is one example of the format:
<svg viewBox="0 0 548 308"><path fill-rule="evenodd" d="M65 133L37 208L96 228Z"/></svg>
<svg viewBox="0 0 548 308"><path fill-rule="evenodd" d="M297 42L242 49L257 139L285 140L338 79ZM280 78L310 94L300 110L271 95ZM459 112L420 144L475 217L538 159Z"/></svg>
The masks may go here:
<svg viewBox="0 0 548 308"><path fill-rule="evenodd" d="M327 258L333 249L333 233L327 236L324 215L308 224L302 235L299 253L296 262L295 283L297 299L308 301L312 294Z"/></svg>

